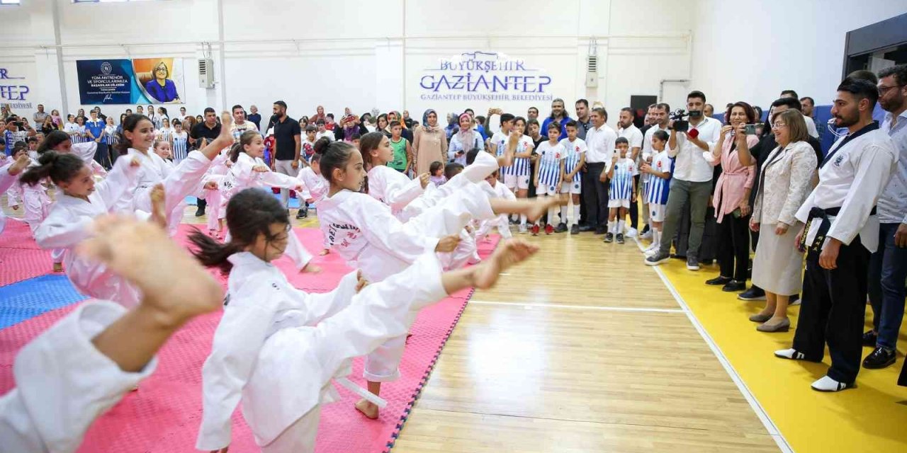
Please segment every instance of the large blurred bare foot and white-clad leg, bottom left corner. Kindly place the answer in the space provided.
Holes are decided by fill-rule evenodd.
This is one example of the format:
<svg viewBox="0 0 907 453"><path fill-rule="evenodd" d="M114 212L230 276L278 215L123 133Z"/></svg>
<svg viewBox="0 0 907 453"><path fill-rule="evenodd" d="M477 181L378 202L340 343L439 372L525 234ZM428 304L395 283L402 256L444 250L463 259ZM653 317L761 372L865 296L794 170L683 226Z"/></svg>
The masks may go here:
<svg viewBox="0 0 907 453"><path fill-rule="evenodd" d="M223 300L220 284L160 226L105 217L90 227L96 236L79 253L145 297L128 313L109 301L79 304L16 354L16 387L0 398L3 451L75 451L94 419L151 375L171 335Z"/></svg>

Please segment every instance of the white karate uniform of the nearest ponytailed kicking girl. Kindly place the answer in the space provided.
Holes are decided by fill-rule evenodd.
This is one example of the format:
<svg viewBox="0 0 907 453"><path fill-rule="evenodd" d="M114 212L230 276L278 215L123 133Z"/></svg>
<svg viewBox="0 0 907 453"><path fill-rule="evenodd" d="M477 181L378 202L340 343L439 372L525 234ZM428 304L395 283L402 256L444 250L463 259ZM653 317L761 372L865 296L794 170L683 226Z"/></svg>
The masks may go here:
<svg viewBox="0 0 907 453"><path fill-rule="evenodd" d="M434 254L359 294L356 272L330 293L307 294L248 252L229 261L224 315L202 368L204 451L229 445L239 400L263 451L314 451L320 405L338 400L330 381L349 374L354 357L405 336L406 313L446 295Z"/></svg>

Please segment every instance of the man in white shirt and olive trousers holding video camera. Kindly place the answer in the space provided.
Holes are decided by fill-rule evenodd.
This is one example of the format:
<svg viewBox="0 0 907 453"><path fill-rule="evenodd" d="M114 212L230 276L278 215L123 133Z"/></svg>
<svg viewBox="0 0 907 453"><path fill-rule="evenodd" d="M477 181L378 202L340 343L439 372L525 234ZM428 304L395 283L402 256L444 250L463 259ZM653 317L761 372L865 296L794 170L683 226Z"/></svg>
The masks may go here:
<svg viewBox="0 0 907 453"><path fill-rule="evenodd" d="M668 140L668 156L675 158L671 190L668 194L668 207L665 211L665 222L661 235L666 240L661 242L658 253L646 258L646 265L660 265L670 258L671 238L678 231L682 209L689 204L690 228L687 247L687 269L699 270L699 246L702 244L702 232L706 227L706 208L712 192L712 165L702 153L711 149L718 141L721 121L708 118L703 109L706 95L703 92L690 92L687 95L689 111L689 130L678 132L674 120L668 122L671 130Z"/></svg>

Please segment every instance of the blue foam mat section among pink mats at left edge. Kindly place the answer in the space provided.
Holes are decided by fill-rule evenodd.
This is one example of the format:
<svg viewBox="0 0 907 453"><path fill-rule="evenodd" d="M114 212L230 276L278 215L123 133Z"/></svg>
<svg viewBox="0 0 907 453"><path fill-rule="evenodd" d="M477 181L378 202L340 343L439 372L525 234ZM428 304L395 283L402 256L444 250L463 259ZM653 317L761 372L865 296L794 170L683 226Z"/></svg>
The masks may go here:
<svg viewBox="0 0 907 453"><path fill-rule="evenodd" d="M41 275L0 287L0 329L87 299L65 275Z"/></svg>

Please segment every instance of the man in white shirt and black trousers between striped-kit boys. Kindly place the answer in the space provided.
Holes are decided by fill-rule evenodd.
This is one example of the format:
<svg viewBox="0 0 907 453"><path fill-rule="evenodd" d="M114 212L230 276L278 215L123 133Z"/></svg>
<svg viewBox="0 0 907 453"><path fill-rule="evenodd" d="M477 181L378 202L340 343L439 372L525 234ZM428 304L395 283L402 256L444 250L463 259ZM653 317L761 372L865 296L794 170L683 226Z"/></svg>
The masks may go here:
<svg viewBox="0 0 907 453"><path fill-rule="evenodd" d="M592 128L586 132L586 174L582 178L586 219L596 235L604 235L608 224L608 183L601 181L601 173L614 154L618 134L609 125L608 111L602 107L592 109Z"/></svg>

